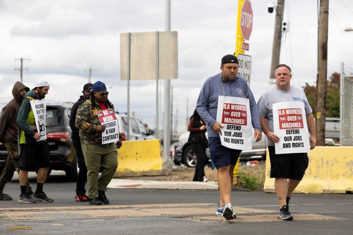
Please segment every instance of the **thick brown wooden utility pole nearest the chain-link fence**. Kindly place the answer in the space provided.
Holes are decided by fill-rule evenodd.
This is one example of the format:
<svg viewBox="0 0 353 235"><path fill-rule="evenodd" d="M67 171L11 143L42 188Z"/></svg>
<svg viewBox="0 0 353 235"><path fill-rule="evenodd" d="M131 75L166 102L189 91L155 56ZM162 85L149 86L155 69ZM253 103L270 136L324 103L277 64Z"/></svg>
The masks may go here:
<svg viewBox="0 0 353 235"><path fill-rule="evenodd" d="M318 76L316 81L316 145L325 145L325 110L327 92L327 42L329 23L329 0L320 1Z"/></svg>

